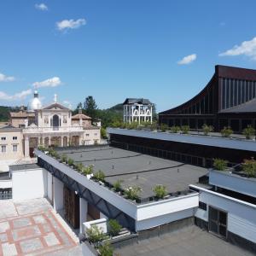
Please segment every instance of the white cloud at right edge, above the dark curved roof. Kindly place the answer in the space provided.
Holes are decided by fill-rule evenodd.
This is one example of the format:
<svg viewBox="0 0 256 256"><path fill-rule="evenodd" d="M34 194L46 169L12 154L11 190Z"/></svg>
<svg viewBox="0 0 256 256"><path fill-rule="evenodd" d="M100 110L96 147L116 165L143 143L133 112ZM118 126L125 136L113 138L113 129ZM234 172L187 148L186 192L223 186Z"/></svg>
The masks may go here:
<svg viewBox="0 0 256 256"><path fill-rule="evenodd" d="M256 37L250 41L244 41L240 45L220 53L219 56L237 56L246 55L256 61Z"/></svg>

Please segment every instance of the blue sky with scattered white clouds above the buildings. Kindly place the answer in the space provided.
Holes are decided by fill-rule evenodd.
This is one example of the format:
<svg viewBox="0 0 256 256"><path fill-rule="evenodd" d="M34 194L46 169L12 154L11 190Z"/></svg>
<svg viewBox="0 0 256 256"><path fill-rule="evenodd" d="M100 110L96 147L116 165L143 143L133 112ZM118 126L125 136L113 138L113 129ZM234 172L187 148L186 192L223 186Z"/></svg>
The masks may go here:
<svg viewBox="0 0 256 256"><path fill-rule="evenodd" d="M256 69L255 1L0 1L0 105L144 97L162 111L217 64Z"/></svg>

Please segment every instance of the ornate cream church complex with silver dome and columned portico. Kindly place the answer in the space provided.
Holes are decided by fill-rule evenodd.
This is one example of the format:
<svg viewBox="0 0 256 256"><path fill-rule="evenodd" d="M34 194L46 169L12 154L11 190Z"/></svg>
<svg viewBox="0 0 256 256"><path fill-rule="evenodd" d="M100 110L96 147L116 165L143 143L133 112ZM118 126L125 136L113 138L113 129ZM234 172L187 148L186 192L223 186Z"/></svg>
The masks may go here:
<svg viewBox="0 0 256 256"><path fill-rule="evenodd" d="M35 91L29 109L11 112L9 125L0 128L0 172L17 160L29 159L34 148L43 146L77 146L101 143L101 124L57 102L42 107ZM1 164L2 163L2 164Z"/></svg>

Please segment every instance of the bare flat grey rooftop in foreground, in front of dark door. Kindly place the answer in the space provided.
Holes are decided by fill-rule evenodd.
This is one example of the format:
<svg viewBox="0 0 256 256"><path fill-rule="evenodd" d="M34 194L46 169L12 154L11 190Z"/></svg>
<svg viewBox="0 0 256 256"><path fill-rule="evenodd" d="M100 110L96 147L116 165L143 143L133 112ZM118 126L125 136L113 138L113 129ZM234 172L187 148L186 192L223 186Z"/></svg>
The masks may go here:
<svg viewBox="0 0 256 256"><path fill-rule="evenodd" d="M115 249L125 256L252 256L246 250L213 236L196 226Z"/></svg>

